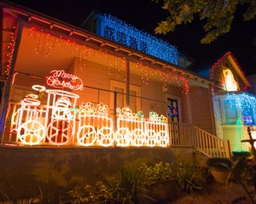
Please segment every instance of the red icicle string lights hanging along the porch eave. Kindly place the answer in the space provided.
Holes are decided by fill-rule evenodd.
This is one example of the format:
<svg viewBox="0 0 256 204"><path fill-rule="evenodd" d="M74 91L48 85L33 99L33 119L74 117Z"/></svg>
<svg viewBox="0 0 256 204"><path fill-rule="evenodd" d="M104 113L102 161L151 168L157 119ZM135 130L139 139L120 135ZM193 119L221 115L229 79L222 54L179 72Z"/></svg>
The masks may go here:
<svg viewBox="0 0 256 204"><path fill-rule="evenodd" d="M35 27L31 28L26 28L25 29L28 31L29 35L31 37L34 37L34 40L37 41L37 47L42 46L45 47L44 41L39 40L38 37L43 37L46 38L45 36L48 36L48 33L44 33L43 30L38 30ZM53 49L56 46L62 46L62 45L70 45L71 48L71 53L75 56L78 57L78 69L84 69L87 67L88 61L90 61L93 58L98 58L100 61L102 61L103 65L106 65L109 68L109 75L110 77L117 77L117 78L122 78L122 72L121 68L124 69L126 60L125 58L122 57L115 57L112 54L109 54L106 52L106 50L102 49L90 49L86 47L85 45L79 45L75 41L72 41L71 39L64 39L62 37L54 37L54 36L49 36L50 37L50 49L47 49L49 53L46 52L40 52L38 48L35 49L35 53L42 54L43 56L47 57L50 55L51 49ZM42 44L42 45L38 45ZM66 47L62 48L66 49ZM130 62L131 64L133 62ZM140 61L134 65L136 68L142 70L142 83L143 84L148 84L150 80L150 76L158 76L160 80L162 81L163 84L168 83L173 83L175 82L178 84L178 87L181 88L182 93L187 93L189 92L189 83L188 80L185 77L177 76L174 73L164 73L161 72L158 69L150 69L150 67L142 65Z"/></svg>

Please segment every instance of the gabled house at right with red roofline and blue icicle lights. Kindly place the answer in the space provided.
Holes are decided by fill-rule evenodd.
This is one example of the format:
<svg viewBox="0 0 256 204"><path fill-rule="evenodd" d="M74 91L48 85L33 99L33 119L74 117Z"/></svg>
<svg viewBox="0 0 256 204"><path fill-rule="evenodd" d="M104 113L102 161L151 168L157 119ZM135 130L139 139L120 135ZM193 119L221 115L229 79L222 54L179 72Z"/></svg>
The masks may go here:
<svg viewBox="0 0 256 204"><path fill-rule="evenodd" d="M250 81L233 54L227 52L210 69L198 71L217 83L212 88L214 116L219 138L230 141L231 151L249 151L247 127L255 126L256 96L248 92Z"/></svg>

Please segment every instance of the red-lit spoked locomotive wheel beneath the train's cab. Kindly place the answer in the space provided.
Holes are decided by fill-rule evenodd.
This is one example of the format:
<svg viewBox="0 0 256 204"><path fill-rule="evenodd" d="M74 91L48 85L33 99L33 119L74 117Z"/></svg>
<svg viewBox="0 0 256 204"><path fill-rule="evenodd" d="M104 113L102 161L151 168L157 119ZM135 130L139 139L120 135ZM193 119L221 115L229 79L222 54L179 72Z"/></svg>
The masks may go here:
<svg viewBox="0 0 256 204"><path fill-rule="evenodd" d="M72 126L66 120L53 120L47 127L47 139L54 145L70 142Z"/></svg>

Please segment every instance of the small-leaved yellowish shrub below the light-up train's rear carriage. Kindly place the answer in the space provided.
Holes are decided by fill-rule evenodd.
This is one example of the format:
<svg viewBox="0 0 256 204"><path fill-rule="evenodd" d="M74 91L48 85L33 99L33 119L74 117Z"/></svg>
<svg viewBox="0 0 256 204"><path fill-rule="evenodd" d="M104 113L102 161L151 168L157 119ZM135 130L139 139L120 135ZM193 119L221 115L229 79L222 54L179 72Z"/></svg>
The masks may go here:
<svg viewBox="0 0 256 204"><path fill-rule="evenodd" d="M146 163L142 163L139 167L142 170L144 179L147 182L164 182L172 178L172 167L169 163L156 163L154 166L148 166Z"/></svg>

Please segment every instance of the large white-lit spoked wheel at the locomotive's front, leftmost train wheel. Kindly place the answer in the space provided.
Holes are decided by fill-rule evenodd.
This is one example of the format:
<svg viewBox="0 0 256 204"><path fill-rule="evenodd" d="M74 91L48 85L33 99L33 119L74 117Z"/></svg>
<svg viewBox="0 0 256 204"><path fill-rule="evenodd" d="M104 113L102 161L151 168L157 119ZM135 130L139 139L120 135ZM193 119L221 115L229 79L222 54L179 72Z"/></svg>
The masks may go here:
<svg viewBox="0 0 256 204"><path fill-rule="evenodd" d="M41 123L34 120L26 121L18 127L18 139L27 145L35 145L42 141L46 130Z"/></svg>

